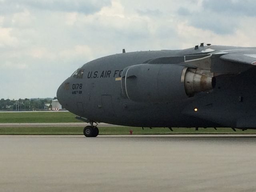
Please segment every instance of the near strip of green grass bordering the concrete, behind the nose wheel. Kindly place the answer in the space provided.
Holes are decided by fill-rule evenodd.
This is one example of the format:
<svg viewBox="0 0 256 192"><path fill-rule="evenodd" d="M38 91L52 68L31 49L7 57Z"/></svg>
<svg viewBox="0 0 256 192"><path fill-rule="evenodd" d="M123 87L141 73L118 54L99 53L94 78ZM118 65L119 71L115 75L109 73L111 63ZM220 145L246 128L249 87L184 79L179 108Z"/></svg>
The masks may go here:
<svg viewBox="0 0 256 192"><path fill-rule="evenodd" d="M230 128L173 128L171 132L168 128L138 128L138 127L100 127L100 135L129 135L130 130L133 134L256 134L255 130L234 132ZM83 127L20 127L20 128L0 128L0 135L83 135Z"/></svg>

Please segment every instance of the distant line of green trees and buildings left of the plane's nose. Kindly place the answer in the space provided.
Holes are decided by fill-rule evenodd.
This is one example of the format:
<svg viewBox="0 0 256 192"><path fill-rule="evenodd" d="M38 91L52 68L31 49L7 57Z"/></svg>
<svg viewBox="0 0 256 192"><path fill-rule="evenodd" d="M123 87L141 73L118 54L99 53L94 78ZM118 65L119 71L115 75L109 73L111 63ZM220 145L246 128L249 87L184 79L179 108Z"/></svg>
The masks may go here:
<svg viewBox="0 0 256 192"><path fill-rule="evenodd" d="M33 99L1 99L0 110L4 111L34 111L49 110L52 108L52 100L55 98L33 98Z"/></svg>

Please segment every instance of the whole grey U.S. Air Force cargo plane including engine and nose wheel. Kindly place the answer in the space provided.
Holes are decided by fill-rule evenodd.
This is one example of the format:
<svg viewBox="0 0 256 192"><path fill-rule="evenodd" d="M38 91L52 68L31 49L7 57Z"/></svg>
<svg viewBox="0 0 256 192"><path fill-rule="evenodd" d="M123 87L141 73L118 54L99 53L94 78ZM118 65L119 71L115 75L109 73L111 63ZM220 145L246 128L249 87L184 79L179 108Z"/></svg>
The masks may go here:
<svg viewBox="0 0 256 192"><path fill-rule="evenodd" d="M256 128L256 48L140 51L84 64L58 88L64 108L89 123L136 127Z"/></svg>

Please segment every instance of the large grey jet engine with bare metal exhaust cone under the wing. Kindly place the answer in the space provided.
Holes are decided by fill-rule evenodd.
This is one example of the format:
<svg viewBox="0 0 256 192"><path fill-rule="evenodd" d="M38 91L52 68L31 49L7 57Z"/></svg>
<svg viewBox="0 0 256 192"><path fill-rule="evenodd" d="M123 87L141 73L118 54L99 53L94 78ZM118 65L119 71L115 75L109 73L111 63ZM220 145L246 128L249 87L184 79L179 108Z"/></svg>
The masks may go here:
<svg viewBox="0 0 256 192"><path fill-rule="evenodd" d="M178 64L138 64L122 72L122 94L136 102L170 102L211 90L215 79Z"/></svg>

